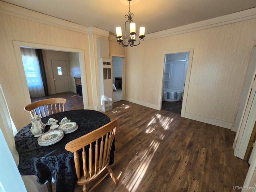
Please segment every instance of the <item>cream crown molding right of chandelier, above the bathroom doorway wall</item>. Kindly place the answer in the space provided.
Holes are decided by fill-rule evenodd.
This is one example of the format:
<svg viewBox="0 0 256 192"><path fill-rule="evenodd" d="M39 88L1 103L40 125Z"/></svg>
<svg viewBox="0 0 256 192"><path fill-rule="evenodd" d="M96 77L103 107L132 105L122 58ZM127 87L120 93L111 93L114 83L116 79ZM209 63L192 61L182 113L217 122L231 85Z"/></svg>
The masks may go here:
<svg viewBox="0 0 256 192"><path fill-rule="evenodd" d="M222 26L222 25L249 20L253 18L256 18L256 8L251 8L248 10L244 10L244 11L168 29L168 30L146 34L146 37L144 38L144 40L151 40L151 39L162 38L166 36L198 31L202 29L208 29L212 27Z"/></svg>

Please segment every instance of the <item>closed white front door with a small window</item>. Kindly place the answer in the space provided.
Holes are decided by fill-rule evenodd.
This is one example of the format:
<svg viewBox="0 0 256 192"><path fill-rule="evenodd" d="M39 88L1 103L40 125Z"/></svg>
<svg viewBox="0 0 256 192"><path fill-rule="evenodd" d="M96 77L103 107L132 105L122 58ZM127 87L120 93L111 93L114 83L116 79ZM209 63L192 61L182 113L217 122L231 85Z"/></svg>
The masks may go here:
<svg viewBox="0 0 256 192"><path fill-rule="evenodd" d="M51 60L56 93L69 91L68 70L65 60Z"/></svg>

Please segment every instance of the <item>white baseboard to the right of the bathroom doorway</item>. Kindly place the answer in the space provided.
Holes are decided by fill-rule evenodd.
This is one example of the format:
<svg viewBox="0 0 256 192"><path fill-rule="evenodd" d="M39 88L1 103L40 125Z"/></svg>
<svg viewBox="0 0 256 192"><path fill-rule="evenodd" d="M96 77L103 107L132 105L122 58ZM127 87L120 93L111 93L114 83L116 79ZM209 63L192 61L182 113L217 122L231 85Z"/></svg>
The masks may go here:
<svg viewBox="0 0 256 192"><path fill-rule="evenodd" d="M214 118L204 117L204 116L200 116L200 115L196 115L196 114L192 114L192 113L185 112L184 117L188 118L188 119L200 121L203 123L208 123L211 125L216 125L219 127L227 128L227 129L231 129L231 127L232 127L231 122L226 122L226 121L222 121L222 120L218 120L218 119L214 119Z"/></svg>

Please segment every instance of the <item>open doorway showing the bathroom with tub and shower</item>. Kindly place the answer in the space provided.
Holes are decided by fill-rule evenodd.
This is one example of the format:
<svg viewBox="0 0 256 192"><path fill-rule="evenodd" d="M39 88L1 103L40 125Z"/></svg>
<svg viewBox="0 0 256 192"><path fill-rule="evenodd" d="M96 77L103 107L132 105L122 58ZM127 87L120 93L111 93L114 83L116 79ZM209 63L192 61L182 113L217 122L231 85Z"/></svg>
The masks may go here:
<svg viewBox="0 0 256 192"><path fill-rule="evenodd" d="M165 54L162 110L181 114L189 52Z"/></svg>

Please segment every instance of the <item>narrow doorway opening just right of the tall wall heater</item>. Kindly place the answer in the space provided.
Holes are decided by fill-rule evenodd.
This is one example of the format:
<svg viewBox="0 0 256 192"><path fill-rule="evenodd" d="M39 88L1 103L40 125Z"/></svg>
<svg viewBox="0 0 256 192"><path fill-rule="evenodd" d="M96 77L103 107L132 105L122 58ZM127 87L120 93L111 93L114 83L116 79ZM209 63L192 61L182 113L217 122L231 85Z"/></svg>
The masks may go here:
<svg viewBox="0 0 256 192"><path fill-rule="evenodd" d="M123 100L122 97L122 57L112 56L113 71L113 102Z"/></svg>

